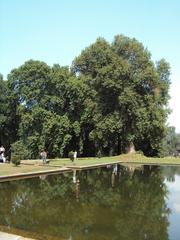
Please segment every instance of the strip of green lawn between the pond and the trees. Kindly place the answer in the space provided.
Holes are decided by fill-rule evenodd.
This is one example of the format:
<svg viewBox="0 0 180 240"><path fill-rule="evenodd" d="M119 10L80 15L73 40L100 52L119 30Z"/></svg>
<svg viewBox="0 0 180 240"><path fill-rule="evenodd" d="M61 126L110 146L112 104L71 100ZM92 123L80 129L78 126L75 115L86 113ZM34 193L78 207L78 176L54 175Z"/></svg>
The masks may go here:
<svg viewBox="0 0 180 240"><path fill-rule="evenodd" d="M49 165L42 165L42 160L24 160L22 164L15 167L12 164L0 164L0 177L5 175L14 175L21 173L34 173L38 171L57 170L58 167L91 167L101 164L112 163L134 163L134 164L170 164L180 165L180 157L150 158L141 154L122 154L114 157L102 158L79 158L72 163L68 158L52 159Z"/></svg>

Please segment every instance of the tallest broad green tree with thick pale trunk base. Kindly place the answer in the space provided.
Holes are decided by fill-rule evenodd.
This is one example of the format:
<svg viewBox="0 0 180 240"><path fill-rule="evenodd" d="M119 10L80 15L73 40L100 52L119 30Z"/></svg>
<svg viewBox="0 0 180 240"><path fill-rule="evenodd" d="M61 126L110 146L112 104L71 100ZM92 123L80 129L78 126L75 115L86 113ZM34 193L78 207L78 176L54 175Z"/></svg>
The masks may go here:
<svg viewBox="0 0 180 240"><path fill-rule="evenodd" d="M110 45L98 39L72 66L96 92L94 128L89 136L105 152L157 154L165 133L169 65L156 65L135 39L122 35Z"/></svg>

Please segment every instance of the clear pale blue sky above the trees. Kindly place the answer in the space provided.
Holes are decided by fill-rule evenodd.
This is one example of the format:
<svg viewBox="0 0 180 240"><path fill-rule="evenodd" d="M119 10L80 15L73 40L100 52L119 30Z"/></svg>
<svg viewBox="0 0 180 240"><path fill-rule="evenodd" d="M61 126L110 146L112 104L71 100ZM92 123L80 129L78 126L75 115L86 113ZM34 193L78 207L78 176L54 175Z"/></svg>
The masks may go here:
<svg viewBox="0 0 180 240"><path fill-rule="evenodd" d="M29 59L70 65L97 37L135 37L171 65L169 124L180 131L179 0L0 0L0 72Z"/></svg>

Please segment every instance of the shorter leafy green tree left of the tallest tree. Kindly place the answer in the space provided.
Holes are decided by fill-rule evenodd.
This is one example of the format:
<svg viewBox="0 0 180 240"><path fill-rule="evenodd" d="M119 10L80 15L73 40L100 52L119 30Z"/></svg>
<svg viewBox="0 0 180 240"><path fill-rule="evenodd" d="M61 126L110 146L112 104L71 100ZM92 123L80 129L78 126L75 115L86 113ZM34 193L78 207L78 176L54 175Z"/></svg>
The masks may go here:
<svg viewBox="0 0 180 240"><path fill-rule="evenodd" d="M82 79L68 67L50 68L30 60L11 72L8 84L18 101L18 143L29 151L24 157L36 158L42 149L49 157L67 156L73 149L83 151L82 114L90 90Z"/></svg>

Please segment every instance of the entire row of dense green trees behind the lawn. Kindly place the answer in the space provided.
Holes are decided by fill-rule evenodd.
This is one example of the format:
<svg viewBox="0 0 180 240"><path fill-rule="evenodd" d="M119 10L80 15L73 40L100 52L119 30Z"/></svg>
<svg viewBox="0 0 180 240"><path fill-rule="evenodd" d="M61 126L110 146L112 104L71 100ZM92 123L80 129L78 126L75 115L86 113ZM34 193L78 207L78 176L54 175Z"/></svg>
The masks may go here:
<svg viewBox="0 0 180 240"><path fill-rule="evenodd" d="M0 79L0 140L36 158L116 155L132 149L158 155L166 134L170 69L135 39L102 38L71 68L30 60Z"/></svg>

